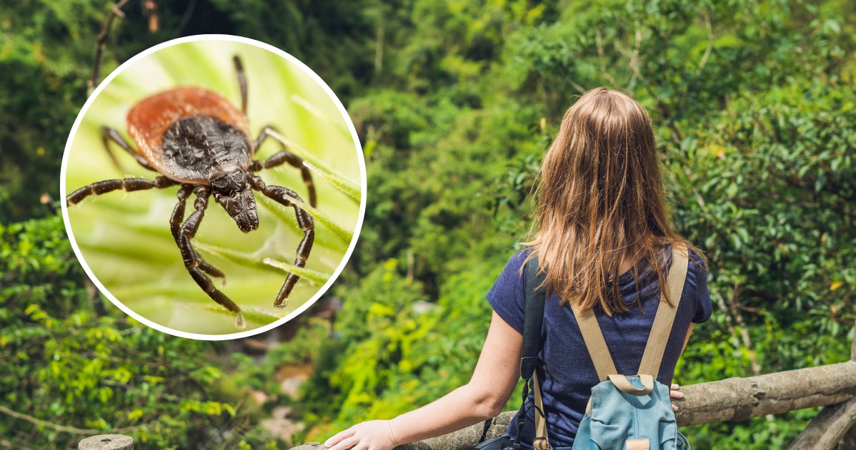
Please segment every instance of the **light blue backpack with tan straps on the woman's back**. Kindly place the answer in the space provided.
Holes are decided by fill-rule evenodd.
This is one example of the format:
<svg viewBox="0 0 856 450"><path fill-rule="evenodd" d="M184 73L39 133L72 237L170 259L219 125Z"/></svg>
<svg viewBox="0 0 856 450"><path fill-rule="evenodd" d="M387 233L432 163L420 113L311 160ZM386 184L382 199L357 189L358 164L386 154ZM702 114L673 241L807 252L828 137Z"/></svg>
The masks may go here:
<svg viewBox="0 0 856 450"><path fill-rule="evenodd" d="M601 381L591 389L586 415L577 430L573 450L690 449L687 438L678 431L675 412L669 400L669 387L657 381L666 342L669 340L675 313L681 302L688 263L687 248L673 245L672 264L666 278L666 287L661 290L665 292L668 289L669 299L673 301L674 306L669 305L663 295L651 326L651 334L645 344L638 375L618 374L594 311L591 308L579 311L577 307L573 307L586 349ZM526 395L531 385L536 408L535 440L532 447L535 450L552 450L547 436L538 374L535 372L535 363L541 347L541 324L544 319L544 273L539 272L538 267L537 258L526 264L523 358L520 360L520 376L524 379L524 405L520 406L517 439L514 443L519 441L526 420ZM514 448L520 447L515 445Z"/></svg>

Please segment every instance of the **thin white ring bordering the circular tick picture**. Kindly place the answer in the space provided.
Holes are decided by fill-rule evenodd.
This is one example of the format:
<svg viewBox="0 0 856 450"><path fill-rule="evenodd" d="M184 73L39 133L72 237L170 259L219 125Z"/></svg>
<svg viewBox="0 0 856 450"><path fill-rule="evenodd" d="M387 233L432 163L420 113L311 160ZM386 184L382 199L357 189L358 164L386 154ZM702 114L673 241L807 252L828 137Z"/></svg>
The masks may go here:
<svg viewBox="0 0 856 450"><path fill-rule="evenodd" d="M65 222L65 231L66 233L68 233L68 241L71 242L71 247L74 248L74 254L77 256L77 260L80 261L80 266L83 266L83 270L86 271L86 275L89 276L89 278L92 280L92 283L95 283L95 285L98 287L98 290L101 291L104 296L110 299L110 301L112 301L113 304L116 305L116 307L118 307L134 319L138 320L139 322L146 324L155 330L162 331L163 333L167 333L172 336L187 337L189 339L197 339L200 341L227 341L230 339L254 336L259 333L263 333L267 330L276 328L277 326L288 322L288 320L294 319L294 317L296 317L298 314L306 311L306 308L311 307L312 304L315 303L315 301L318 301L321 295L324 295L324 293L327 292L327 289L330 289L330 285L332 285L336 281L336 278L339 278L339 274L342 273L342 269L344 269L345 265L348 264L348 260L351 259L351 254L354 252L354 247L357 244L357 240L360 238L360 231L363 227L363 217L366 215L366 158L363 155L363 148L360 144L360 137L357 136L357 130L356 128L354 128L354 122L351 121L350 116L348 116L348 111L342 105L342 102L339 101L339 97L337 97L336 94L330 89L330 86L324 83L324 80L321 79L321 77L319 77L317 73L313 72L311 68L307 67L306 64L304 64L294 56L288 55L288 53L277 49L273 45L265 44L255 39L242 38L241 36L231 36L229 34L199 34L196 36L187 36L185 38L172 39L170 41L155 45L154 47L151 47L149 49L143 50L140 54L135 55L128 61L123 62L121 66L117 67L116 70L110 73L110 75L108 75L107 78L105 78L104 81L102 81L98 85L95 91L92 91L92 95L90 95L89 98L86 99L86 103L83 104L83 108L81 108L80 113L77 114L77 119L74 120L74 126L71 127L71 133L68 135L68 141L65 144L65 150L62 154L62 169L60 170L59 186L59 193L61 199L65 199L66 197L65 178L66 170L68 167L68 154L70 153L71 145L74 141L74 136L77 134L77 127L80 126L80 122L83 120L83 116L86 115L86 111L89 110L90 106L92 106L92 102L95 101L95 98L98 97L101 91L104 91L104 87L106 85L109 85L110 81L115 79L116 76L119 73L122 73L126 68L128 68L128 66L134 64L135 61L140 60L145 56L149 56L158 50L170 47L172 45L198 41L231 41L238 42L241 44L250 44L255 47L259 47L259 49L268 50L278 56L281 56L282 58L285 58L295 66L299 67L303 72L309 75L310 78L312 78L316 83L318 83L318 85L321 86L324 92L326 92L327 95L330 96L330 98L333 100L333 102L336 103L336 108L339 108L339 112L342 113L342 116L345 118L345 122L348 124L348 130L351 131L351 137L354 139L354 143L356 144L356 150L359 156L358 160L360 160L360 216L357 218L357 226L356 228L354 228L354 237L351 238L351 243L350 245L348 245L348 251L345 252L345 256L342 258L342 262L340 262L339 266L336 267L336 271L333 272L333 274L327 280L327 283L324 283L324 286L321 286L321 289L318 289L318 292L316 292L315 295L312 295L312 298L310 298L303 305L294 310L294 312L288 314L282 319L276 320L276 322L260 326L259 328L253 328L253 330L241 331L239 333L230 333L227 335L203 335L199 333L188 333L187 331L173 330L161 324L156 324L155 322L152 322L152 320L146 319L143 316L140 316L140 314L135 313L134 310L123 305L121 301L116 300L116 297L110 294L109 290L104 288L104 285L98 280L98 277L96 277L95 274L92 273L92 269L90 269L89 266L86 265L86 260L83 259L83 254L80 253L80 248L78 248L77 242L74 240L74 233L71 231L71 224L68 221L68 206L64 201L60 203L62 207L62 220Z"/></svg>

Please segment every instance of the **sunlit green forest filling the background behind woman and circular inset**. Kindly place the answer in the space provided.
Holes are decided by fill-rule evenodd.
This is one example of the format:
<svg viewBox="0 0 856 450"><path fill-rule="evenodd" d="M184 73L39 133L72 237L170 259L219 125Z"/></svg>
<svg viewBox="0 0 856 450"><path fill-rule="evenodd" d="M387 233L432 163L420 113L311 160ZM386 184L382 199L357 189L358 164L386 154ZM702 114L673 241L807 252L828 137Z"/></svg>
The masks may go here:
<svg viewBox="0 0 856 450"><path fill-rule="evenodd" d="M676 382L850 357L850 0L120 3L100 78L202 33L258 39L312 67L359 133L365 223L327 298L257 336L273 342L264 353L128 318L86 279L56 213L63 148L114 2L4 0L2 447L74 448L115 432L140 448L288 448L467 383L490 321L484 295L529 232L541 156L565 109L597 86L648 109L672 217L710 260L713 317ZM283 389L283 374L307 367ZM294 426L272 430L283 407ZM700 449L783 448L815 414L683 432Z"/></svg>

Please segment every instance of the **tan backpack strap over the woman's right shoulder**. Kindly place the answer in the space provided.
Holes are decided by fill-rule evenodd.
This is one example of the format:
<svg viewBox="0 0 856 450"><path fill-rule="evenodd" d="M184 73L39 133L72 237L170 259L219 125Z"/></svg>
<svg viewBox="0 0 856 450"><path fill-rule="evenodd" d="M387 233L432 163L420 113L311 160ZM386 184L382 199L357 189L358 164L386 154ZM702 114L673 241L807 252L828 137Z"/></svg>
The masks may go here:
<svg viewBox="0 0 856 450"><path fill-rule="evenodd" d="M669 342L669 334L672 332L672 324L675 322L675 313L681 304L681 294L684 291L684 282L687 280L687 266L689 265L689 253L683 244L672 244L672 266L666 278L666 289L669 292L669 300L663 298L657 307L657 315L654 316L654 324L651 326L651 334L645 344L645 353L642 354L642 363L639 364L639 373L651 375L657 378L660 373L660 363L663 361L663 353L666 351L666 342Z"/></svg>

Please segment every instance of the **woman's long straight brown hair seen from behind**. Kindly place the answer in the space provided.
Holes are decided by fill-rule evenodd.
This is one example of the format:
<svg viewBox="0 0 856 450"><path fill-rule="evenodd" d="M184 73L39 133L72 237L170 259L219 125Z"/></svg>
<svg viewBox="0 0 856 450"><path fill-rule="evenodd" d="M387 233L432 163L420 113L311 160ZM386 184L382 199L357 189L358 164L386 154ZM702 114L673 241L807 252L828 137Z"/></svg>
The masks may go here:
<svg viewBox="0 0 856 450"><path fill-rule="evenodd" d="M663 286L658 255L668 244L684 243L704 261L670 223L651 119L621 92L597 88L568 108L544 155L537 197L525 244L529 259L538 255L547 292L556 291L562 304L627 312L621 262L633 261L638 281L639 262L647 261Z"/></svg>

